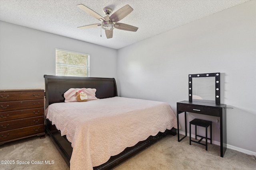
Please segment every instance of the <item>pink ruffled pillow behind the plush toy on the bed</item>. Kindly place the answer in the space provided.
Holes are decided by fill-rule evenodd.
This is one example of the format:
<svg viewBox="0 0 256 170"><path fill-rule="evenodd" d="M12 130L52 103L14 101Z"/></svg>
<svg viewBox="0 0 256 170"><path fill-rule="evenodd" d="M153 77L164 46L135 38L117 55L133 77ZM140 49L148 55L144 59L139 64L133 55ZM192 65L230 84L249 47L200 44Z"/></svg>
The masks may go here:
<svg viewBox="0 0 256 170"><path fill-rule="evenodd" d="M96 88L70 88L64 93L65 102L78 102L76 99L76 92L79 90L82 90L87 94L88 100L98 99L95 95Z"/></svg>

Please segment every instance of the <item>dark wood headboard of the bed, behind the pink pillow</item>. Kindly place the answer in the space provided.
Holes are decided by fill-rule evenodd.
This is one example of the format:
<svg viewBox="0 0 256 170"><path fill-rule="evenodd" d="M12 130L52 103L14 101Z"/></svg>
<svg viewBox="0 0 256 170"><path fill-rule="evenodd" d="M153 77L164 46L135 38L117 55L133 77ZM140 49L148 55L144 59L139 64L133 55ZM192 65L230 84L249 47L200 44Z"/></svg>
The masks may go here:
<svg viewBox="0 0 256 170"><path fill-rule="evenodd" d="M70 77L44 75L47 108L50 104L64 102L64 93L70 88L96 88L99 99L117 96L114 78Z"/></svg>

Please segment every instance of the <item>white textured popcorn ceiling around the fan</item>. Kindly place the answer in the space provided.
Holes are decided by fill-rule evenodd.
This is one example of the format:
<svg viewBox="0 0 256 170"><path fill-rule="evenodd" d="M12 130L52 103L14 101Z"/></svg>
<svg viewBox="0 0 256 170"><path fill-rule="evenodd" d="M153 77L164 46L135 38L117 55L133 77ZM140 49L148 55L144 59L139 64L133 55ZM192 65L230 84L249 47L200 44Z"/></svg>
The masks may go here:
<svg viewBox="0 0 256 170"><path fill-rule="evenodd" d="M143 39L199 20L249 0L0 0L0 20L81 41L120 49ZM104 29L77 27L100 23L76 5L84 4L101 16L129 4L134 10L120 23L139 27L137 32L114 29L107 39ZM102 34L102 37L100 36Z"/></svg>

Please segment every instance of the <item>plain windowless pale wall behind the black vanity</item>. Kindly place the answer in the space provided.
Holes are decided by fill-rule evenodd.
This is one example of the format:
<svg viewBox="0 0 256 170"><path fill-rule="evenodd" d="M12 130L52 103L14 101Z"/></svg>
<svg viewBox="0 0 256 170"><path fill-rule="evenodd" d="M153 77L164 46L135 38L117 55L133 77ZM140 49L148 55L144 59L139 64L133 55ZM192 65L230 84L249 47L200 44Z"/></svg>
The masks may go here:
<svg viewBox="0 0 256 170"><path fill-rule="evenodd" d="M188 74L221 72L221 103L234 107L227 110L228 147L255 154L255 7L246 2L119 49L120 96L167 102L176 113L176 102L188 100ZM217 117L190 113L188 122L194 117L212 120L220 142Z"/></svg>

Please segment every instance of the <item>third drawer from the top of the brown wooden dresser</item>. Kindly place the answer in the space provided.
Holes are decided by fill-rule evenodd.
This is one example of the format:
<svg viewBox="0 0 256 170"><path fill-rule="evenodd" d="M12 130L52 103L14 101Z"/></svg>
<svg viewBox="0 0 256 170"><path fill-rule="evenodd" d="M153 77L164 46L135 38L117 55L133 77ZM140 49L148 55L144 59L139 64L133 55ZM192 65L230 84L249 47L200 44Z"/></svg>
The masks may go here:
<svg viewBox="0 0 256 170"><path fill-rule="evenodd" d="M0 122L15 120L15 119L23 119L28 117L35 117L35 116L43 116L43 115L44 115L44 107L36 108L36 109L5 111L5 112L0 112Z"/></svg>

